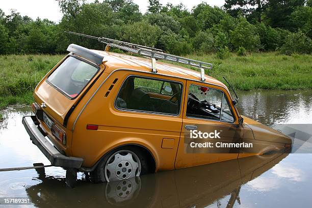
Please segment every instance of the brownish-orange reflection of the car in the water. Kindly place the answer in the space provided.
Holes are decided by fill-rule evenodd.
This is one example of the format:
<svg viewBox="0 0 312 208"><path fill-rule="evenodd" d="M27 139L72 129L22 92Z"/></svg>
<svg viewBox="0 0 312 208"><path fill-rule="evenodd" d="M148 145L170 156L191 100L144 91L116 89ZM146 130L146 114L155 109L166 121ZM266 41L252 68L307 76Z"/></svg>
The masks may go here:
<svg viewBox="0 0 312 208"><path fill-rule="evenodd" d="M38 207L204 207L228 195L226 207L232 207L240 204L242 185L287 155L255 155L105 184L79 180L74 189L38 170L42 183L26 191Z"/></svg>

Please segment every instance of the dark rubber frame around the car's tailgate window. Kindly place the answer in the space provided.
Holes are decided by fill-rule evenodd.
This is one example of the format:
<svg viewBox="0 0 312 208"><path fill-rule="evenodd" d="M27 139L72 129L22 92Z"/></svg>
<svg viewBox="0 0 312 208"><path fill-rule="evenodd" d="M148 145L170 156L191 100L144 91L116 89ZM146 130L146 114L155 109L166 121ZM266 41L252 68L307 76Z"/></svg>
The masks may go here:
<svg viewBox="0 0 312 208"><path fill-rule="evenodd" d="M67 94L65 91L63 91L62 89L60 89L59 87L57 87L56 85L54 85L53 83L51 83L50 81L48 81L50 75L53 74L53 73L55 72L55 70L57 70L57 69L63 64L63 62L64 62L66 59L68 59L69 57L73 57L73 58L75 58L75 59L77 59L77 60L83 61L83 62L85 62L85 63L87 63L87 64L90 64L90 65L94 66L95 68L97 68L97 71L96 71L96 72L94 73L94 75L91 77L91 79L89 80L89 82L84 86L84 88L80 91L80 93L77 94L75 97L71 97L71 96L70 96L69 94ZM81 58L81 57L79 57L79 56L75 56L75 55L70 54L70 55L67 55L67 57L65 57L65 59L63 59L63 61L62 61L53 71L51 71L51 72L49 73L49 75L48 75L48 76L46 77L46 79L45 79L45 82L48 83L49 85L51 85L51 86L52 86L53 88L55 88L56 90L58 90L59 92L61 92L61 93L62 93L63 95L65 95L65 97L67 97L68 99L73 100L73 99L76 99L79 95L81 95L81 93L86 89L86 87L87 87L87 86L90 84L90 82L94 79L94 77L96 76L96 74L98 74L99 70L100 70L100 67L99 67L98 65L96 65L96 64L94 64L94 63L92 63L92 62L90 62L90 61L87 61L87 60L85 60L85 59L83 59L83 58Z"/></svg>

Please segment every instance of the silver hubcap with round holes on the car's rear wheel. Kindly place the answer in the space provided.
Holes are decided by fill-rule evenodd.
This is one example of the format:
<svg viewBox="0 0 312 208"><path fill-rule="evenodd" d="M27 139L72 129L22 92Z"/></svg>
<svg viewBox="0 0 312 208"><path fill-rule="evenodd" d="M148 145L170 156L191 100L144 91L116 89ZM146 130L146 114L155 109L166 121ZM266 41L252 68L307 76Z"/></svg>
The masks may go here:
<svg viewBox="0 0 312 208"><path fill-rule="evenodd" d="M106 162L104 174L106 181L124 180L140 176L141 163L134 152L120 150L115 152Z"/></svg>

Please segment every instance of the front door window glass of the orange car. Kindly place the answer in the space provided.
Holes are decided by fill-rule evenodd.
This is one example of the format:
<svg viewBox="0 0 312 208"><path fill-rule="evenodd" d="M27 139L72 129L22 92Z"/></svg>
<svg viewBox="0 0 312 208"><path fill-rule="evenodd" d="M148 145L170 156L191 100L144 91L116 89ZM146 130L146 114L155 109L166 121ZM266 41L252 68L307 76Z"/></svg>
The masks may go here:
<svg viewBox="0 0 312 208"><path fill-rule="evenodd" d="M226 122L234 121L223 92L198 85L190 85L186 116Z"/></svg>

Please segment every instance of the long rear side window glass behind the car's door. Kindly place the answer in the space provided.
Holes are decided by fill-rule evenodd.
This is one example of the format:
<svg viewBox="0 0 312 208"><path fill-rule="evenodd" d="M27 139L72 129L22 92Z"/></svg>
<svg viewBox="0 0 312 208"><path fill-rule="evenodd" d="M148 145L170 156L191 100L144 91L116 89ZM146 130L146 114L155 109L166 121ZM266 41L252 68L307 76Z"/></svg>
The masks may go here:
<svg viewBox="0 0 312 208"><path fill-rule="evenodd" d="M180 112L182 85L177 82L165 81L171 86L172 96L167 99L150 96L160 94L164 80L150 77L129 76L122 84L115 100L115 106L121 110L142 111L178 115Z"/></svg>

